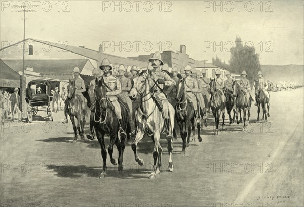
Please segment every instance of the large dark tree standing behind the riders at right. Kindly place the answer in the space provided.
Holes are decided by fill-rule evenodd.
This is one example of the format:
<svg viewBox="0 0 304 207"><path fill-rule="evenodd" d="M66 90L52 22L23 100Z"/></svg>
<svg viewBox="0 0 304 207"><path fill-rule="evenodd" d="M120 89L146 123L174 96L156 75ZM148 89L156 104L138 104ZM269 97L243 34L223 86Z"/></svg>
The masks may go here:
<svg viewBox="0 0 304 207"><path fill-rule="evenodd" d="M245 70L247 78L253 80L261 70L259 54L255 53L254 45L245 44L239 36L236 37L235 43L236 46L231 51L229 67L237 74L241 74Z"/></svg>

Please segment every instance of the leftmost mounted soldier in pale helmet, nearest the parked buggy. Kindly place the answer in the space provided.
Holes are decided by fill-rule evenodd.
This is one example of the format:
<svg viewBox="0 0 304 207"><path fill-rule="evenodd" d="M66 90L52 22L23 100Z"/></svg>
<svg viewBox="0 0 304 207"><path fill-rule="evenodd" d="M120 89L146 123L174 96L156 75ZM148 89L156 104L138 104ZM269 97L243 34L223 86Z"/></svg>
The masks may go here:
<svg viewBox="0 0 304 207"><path fill-rule="evenodd" d="M87 100L84 95L82 94L83 92L86 91L86 86L85 86L85 82L83 79L81 79L80 77L80 70L79 67L74 67L73 69L73 74L74 74L74 78L72 79L72 82L75 82L75 87L76 87L76 91L75 91L75 95L77 96L77 98L79 98L80 102L81 102L81 107L83 109L83 111L86 111L85 105ZM67 100L67 99L66 99ZM66 124L67 123L67 102L66 100L65 102L65 106L64 106L64 120L62 121L62 123ZM86 114L86 113L84 113Z"/></svg>

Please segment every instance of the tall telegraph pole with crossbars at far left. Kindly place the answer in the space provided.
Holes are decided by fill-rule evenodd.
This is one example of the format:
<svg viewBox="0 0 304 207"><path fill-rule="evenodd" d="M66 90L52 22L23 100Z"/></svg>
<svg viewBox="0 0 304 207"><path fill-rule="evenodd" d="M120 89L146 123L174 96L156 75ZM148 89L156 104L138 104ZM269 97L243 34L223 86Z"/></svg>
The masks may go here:
<svg viewBox="0 0 304 207"><path fill-rule="evenodd" d="M22 79L20 82L20 99L21 99L21 111L25 109L25 91L26 91L26 81L24 75L24 57L25 57L25 14L26 12L36 11L35 9L31 9L32 7L37 7L38 5L26 5L26 1L24 1L23 6L14 6L11 8L17 8L16 12L24 12L24 22L23 22L23 60L22 60ZM26 9L29 7L28 9ZM21 9L20 9L21 8Z"/></svg>

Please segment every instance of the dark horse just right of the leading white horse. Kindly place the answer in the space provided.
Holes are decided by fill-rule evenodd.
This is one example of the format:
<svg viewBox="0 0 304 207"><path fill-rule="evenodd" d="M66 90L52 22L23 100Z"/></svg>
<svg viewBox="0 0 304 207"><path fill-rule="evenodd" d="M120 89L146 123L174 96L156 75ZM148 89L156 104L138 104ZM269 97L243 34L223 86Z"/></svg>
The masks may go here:
<svg viewBox="0 0 304 207"><path fill-rule="evenodd" d="M191 129L193 136L195 136L195 126L194 120L196 115L194 113L194 107L187 100L186 90L185 90L185 80L179 76L180 81L177 86L177 96L175 105L175 119L180 128L180 136L182 138L182 151L181 154L185 154L186 147L189 146ZM199 107L199 106L198 106ZM200 123L197 124L198 128L198 140L202 141L200 136L201 126ZM175 130L173 135L175 134Z"/></svg>

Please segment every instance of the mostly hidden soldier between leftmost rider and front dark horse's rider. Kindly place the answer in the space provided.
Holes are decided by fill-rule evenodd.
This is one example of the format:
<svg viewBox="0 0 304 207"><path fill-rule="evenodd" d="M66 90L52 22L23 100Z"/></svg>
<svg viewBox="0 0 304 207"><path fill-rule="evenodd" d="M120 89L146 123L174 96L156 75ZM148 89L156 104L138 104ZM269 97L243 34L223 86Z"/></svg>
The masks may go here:
<svg viewBox="0 0 304 207"><path fill-rule="evenodd" d="M87 138L93 140L94 139L94 126L93 126L93 119L94 119L94 111L95 111L95 92L94 89L96 87L96 78L101 77L103 75L103 72L99 70L98 68L94 68L92 71L92 75L94 76L94 79L90 81L89 84L89 96L91 99L91 102L93 103L91 106L91 115L90 115L90 133L87 134Z"/></svg>

